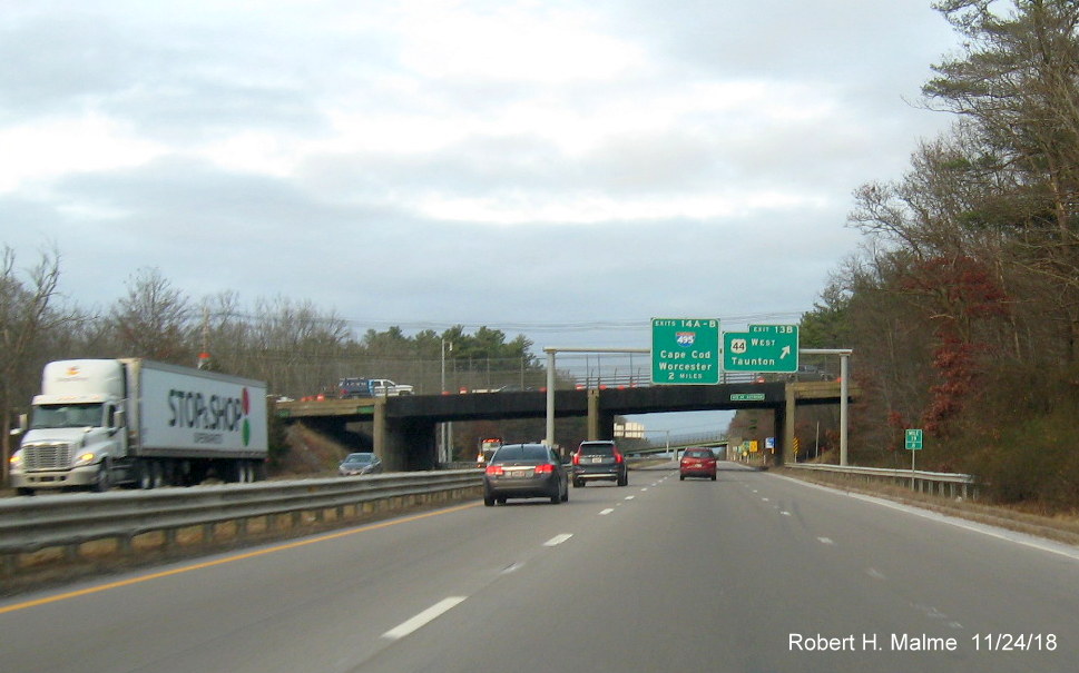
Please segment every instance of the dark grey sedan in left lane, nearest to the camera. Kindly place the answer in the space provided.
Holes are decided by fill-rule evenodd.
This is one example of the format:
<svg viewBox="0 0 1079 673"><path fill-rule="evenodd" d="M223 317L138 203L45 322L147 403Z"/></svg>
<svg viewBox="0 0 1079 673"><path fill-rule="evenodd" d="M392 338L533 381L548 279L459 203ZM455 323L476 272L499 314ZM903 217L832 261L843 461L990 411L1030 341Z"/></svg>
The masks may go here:
<svg viewBox="0 0 1079 673"><path fill-rule="evenodd" d="M511 497L569 499L569 478L558 454L542 444L507 444L494 452L483 472L483 504L504 505Z"/></svg>

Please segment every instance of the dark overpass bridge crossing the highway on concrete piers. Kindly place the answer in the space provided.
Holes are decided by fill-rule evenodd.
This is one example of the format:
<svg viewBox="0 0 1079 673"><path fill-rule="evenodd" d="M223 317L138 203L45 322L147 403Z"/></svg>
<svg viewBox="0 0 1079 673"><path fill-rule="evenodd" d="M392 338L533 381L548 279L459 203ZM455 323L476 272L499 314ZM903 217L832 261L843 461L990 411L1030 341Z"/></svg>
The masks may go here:
<svg viewBox="0 0 1079 673"><path fill-rule="evenodd" d="M620 389L555 390L555 417L587 417L590 439L610 439L615 417L669 412L771 409L777 457L793 461L794 412L798 405L840 404L836 382L737 383L710 386L647 386ZM847 390L850 398L856 393ZM277 416L341 434L349 423L373 427L374 452L388 469L434 469L436 428L458 420L543 418L547 393L506 392L415 395L318 402L278 402Z"/></svg>

